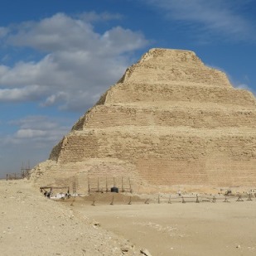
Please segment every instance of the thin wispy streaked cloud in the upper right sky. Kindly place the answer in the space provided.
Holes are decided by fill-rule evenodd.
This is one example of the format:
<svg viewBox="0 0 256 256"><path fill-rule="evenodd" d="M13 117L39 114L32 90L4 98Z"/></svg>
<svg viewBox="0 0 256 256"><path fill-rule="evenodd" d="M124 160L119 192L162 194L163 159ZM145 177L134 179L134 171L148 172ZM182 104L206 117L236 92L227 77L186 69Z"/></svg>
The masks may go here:
<svg viewBox="0 0 256 256"><path fill-rule="evenodd" d="M142 0L143 1L143 0ZM251 1L222 0L148 0L147 3L159 7L165 16L180 25L190 27L196 36L209 36L236 41L256 41L256 29L249 19L241 14L243 7Z"/></svg>

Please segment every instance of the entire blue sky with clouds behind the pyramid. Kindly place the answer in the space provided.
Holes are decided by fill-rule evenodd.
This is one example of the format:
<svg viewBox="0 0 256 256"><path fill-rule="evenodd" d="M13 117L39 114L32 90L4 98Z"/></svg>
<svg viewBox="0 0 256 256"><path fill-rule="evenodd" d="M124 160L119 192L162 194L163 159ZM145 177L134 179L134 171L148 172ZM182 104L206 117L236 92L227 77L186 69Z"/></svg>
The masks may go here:
<svg viewBox="0 0 256 256"><path fill-rule="evenodd" d="M2 0L0 176L34 166L150 48L195 51L256 92L253 0Z"/></svg>

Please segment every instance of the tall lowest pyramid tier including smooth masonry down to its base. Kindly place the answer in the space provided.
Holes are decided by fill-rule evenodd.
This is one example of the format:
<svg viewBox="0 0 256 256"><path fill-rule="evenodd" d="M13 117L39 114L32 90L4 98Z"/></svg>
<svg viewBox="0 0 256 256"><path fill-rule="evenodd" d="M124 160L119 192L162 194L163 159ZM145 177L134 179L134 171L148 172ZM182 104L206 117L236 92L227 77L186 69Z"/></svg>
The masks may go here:
<svg viewBox="0 0 256 256"><path fill-rule="evenodd" d="M88 128L65 137L51 159L118 159L134 164L138 176L155 185L239 186L256 181L254 145L256 131L250 128Z"/></svg>

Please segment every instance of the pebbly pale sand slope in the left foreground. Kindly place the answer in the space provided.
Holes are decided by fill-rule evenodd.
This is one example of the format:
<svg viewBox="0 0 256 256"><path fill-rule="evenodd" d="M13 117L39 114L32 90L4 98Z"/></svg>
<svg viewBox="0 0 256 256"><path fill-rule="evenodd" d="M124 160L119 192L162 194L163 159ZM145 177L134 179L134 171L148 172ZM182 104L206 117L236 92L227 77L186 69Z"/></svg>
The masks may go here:
<svg viewBox="0 0 256 256"><path fill-rule="evenodd" d="M141 255L139 249L43 196L28 181L0 181L0 255Z"/></svg>

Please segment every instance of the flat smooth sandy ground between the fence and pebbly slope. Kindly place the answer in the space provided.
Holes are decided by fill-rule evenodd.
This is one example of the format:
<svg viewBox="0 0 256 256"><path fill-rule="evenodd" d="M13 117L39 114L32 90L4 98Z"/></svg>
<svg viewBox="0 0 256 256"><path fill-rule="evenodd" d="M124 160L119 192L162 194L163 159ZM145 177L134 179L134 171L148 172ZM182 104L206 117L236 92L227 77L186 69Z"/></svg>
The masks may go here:
<svg viewBox="0 0 256 256"><path fill-rule="evenodd" d="M255 255L256 200L137 205L76 204L152 255Z"/></svg>

